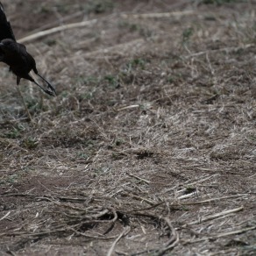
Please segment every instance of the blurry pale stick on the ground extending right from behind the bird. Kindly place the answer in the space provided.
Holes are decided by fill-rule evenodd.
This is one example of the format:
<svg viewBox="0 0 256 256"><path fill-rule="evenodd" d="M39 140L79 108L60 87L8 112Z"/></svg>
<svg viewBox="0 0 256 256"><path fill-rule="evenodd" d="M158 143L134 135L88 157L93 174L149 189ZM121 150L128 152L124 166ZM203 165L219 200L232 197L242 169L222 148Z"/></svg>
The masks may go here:
<svg viewBox="0 0 256 256"><path fill-rule="evenodd" d="M92 19L92 20L86 20L86 21L82 21L82 22L77 22L77 23L70 23L67 25L60 25L60 26L56 26L53 27L51 29L45 30L45 31L41 31L41 32L36 32L32 35L29 35L23 39L19 39L18 43L25 43L27 41L32 41L34 39L39 39L42 37L45 37L47 35L56 33L56 32L61 32L64 30L68 30L68 29L72 29L72 28L77 28L77 27L82 27L82 26L87 26L87 25L93 25L96 24L97 19Z"/></svg>

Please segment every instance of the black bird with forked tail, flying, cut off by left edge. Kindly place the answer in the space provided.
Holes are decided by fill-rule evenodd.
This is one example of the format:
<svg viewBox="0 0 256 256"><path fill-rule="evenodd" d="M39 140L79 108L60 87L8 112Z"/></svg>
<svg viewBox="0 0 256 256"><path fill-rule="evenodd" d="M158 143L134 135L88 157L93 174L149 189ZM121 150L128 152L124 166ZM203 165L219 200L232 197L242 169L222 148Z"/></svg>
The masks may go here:
<svg viewBox="0 0 256 256"><path fill-rule="evenodd" d="M0 2L0 61L4 62L10 67L10 71L17 76L17 85L21 78L25 78L31 82L37 84L43 89L46 94L50 96L56 96L53 85L46 81L46 79L39 75L36 68L36 61L30 53L26 51L24 45L19 44L11 29L11 24L7 21L4 13L4 6ZM43 81L46 82L48 89L44 89L38 82L36 82L31 75L30 71L38 75Z"/></svg>

